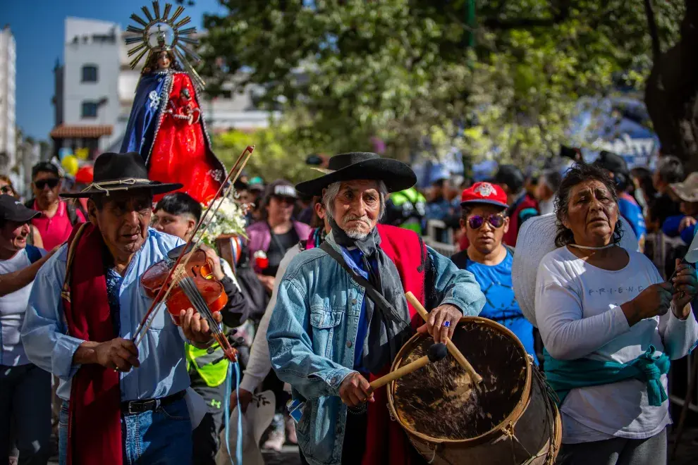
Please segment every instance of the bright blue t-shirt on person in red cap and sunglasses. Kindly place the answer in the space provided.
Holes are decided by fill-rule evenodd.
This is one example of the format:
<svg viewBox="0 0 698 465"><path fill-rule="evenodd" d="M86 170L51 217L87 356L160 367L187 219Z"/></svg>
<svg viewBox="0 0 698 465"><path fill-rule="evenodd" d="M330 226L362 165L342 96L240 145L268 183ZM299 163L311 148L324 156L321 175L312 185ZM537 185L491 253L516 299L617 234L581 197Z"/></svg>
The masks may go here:
<svg viewBox="0 0 698 465"><path fill-rule="evenodd" d="M507 250L506 258L498 265L490 266L467 260L467 271L475 276L486 302L479 316L489 318L506 326L519 338L526 352L538 364L533 345L533 325L523 316L514 297L511 283L511 262L513 255Z"/></svg>

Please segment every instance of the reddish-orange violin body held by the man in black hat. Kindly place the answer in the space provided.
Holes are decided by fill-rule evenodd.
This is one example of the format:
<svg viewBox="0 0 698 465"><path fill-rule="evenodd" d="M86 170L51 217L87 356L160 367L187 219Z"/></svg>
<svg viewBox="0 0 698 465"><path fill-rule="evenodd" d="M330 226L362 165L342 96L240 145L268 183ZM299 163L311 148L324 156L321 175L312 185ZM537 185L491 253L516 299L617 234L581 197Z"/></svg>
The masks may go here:
<svg viewBox="0 0 698 465"><path fill-rule="evenodd" d="M202 249L189 252L192 256L187 265L180 264L175 273L170 273L184 247L182 245L171 250L166 259L150 266L141 276L140 285L147 297L154 299L162 287L176 281L176 287L173 287L164 301L172 321L180 326L180 312L192 308L202 314L213 330L214 326L218 326L213 314L225 308L228 295L221 282L214 277L212 266Z"/></svg>

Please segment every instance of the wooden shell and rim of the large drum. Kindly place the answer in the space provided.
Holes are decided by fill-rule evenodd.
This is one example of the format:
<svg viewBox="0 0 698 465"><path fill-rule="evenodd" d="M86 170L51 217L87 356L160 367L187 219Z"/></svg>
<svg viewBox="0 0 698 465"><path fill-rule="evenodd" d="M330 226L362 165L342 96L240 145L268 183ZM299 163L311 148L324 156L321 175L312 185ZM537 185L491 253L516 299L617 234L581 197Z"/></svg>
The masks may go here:
<svg viewBox="0 0 698 465"><path fill-rule="evenodd" d="M466 316L463 322L477 322L510 336L525 352L520 341L508 328L486 318ZM391 371L400 366L415 343L424 335L414 335L398 352ZM464 351L465 352L465 351ZM464 353L467 358L467 353ZM511 414L484 435L465 440L431 438L406 426L396 411L393 394L395 383L388 384L388 409L407 433L410 442L430 464L437 465L543 465L553 464L562 442L562 423L558 409L551 399L542 374L530 357L527 357L526 385L522 396ZM474 367L477 370L477 366ZM445 419L447 421L447 419ZM549 438L553 440L549 440ZM548 454L549 447L553 450Z"/></svg>

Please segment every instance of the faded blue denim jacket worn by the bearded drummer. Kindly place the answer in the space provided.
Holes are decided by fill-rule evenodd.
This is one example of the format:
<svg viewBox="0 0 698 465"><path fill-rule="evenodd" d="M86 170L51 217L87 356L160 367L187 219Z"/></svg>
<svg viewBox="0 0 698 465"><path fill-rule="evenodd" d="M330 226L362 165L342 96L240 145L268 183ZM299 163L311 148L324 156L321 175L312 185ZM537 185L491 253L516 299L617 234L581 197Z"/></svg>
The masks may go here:
<svg viewBox="0 0 698 465"><path fill-rule="evenodd" d="M339 250L331 235L326 241ZM472 273L429 247L427 254L433 278L425 287L435 297L427 305L453 304L466 316L479 314L485 298ZM319 248L295 256L278 287L267 331L271 366L293 387L294 399L305 401L296 433L312 465L341 463L347 408L339 387L353 371L364 293Z"/></svg>

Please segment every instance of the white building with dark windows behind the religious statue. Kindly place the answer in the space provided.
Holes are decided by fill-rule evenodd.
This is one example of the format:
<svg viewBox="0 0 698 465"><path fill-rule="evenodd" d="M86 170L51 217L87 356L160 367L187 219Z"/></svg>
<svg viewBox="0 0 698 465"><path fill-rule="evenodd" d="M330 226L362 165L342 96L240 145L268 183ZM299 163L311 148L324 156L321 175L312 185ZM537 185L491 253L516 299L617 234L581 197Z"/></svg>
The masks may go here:
<svg viewBox="0 0 698 465"><path fill-rule="evenodd" d="M93 154L119 151L145 58L137 68L116 23L66 18L63 65L54 69L56 126L54 154L60 147L88 147ZM204 77L205 80L205 77ZM200 101L209 132L265 128L272 116L255 109L258 88Z"/></svg>

